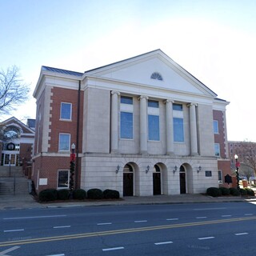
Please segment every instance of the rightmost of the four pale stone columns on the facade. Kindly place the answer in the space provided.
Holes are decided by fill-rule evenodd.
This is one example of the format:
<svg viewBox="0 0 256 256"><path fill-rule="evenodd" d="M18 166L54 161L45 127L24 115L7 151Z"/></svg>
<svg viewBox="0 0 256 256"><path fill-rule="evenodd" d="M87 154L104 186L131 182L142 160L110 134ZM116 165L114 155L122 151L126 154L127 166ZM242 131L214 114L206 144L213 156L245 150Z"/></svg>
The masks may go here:
<svg viewBox="0 0 256 256"><path fill-rule="evenodd" d="M195 107L198 104L190 103L190 146L191 155L198 155L198 133L197 133L197 117Z"/></svg>

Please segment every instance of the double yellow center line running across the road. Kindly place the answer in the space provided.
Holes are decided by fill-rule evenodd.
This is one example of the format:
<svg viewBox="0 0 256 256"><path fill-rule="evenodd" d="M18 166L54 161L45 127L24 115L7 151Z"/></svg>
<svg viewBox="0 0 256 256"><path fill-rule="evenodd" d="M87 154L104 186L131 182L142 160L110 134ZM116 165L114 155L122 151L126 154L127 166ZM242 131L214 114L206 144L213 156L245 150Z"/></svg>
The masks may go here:
<svg viewBox="0 0 256 256"><path fill-rule="evenodd" d="M151 231L151 230L174 229L174 228L187 227L187 226L203 226L203 225L213 225L213 224L226 223L226 222L242 222L242 221L250 221L250 220L256 220L256 216L246 217L246 218L218 219L218 220L206 221L206 222L187 222L187 223L162 225L162 226L146 226L146 227L138 227L138 228L132 228L132 229L124 229L124 230L109 230L109 231L99 231L99 232L82 233L82 234L69 234L69 235L60 235L60 236L46 237L46 238L32 238L32 239L19 240L19 241L6 241L6 242L0 242L0 247L18 246L18 245L25 245L25 244L32 244L32 243L39 243L39 242L54 242L54 241L62 241L62 240L70 240L70 239L78 239L78 238L92 238L92 237L99 237L99 236L111 235L111 234L128 234L128 233L144 232L144 231Z"/></svg>

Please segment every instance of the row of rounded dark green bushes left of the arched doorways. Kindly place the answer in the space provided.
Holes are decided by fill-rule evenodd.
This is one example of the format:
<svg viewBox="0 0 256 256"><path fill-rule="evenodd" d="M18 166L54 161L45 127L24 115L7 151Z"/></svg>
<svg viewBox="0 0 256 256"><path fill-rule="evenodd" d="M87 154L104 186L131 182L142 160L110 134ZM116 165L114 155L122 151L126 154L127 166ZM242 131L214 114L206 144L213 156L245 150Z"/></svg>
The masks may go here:
<svg viewBox="0 0 256 256"><path fill-rule="evenodd" d="M117 190L99 190L99 189L90 189L87 191L78 189L74 190L72 194L70 190L55 190L55 189L46 189L42 190L39 193L39 201L40 202L48 202L55 200L68 200L68 199L118 199L120 198L120 194Z"/></svg>

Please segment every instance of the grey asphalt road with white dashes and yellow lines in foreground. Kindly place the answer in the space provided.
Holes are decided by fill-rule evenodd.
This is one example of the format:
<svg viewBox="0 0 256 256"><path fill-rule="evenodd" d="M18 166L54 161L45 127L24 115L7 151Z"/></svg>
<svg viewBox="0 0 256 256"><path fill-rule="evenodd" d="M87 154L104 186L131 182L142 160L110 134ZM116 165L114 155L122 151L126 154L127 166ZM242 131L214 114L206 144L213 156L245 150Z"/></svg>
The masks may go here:
<svg viewBox="0 0 256 256"><path fill-rule="evenodd" d="M4 255L255 255L249 202L0 212Z"/></svg>

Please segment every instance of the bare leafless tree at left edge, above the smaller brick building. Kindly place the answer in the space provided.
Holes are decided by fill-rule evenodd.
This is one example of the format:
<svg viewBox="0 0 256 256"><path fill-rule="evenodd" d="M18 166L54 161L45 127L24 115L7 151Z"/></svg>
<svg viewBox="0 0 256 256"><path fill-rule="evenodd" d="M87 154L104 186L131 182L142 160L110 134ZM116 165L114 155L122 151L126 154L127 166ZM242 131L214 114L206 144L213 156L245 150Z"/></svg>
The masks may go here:
<svg viewBox="0 0 256 256"><path fill-rule="evenodd" d="M27 100L29 91L30 87L20 78L17 66L0 70L0 114L10 114Z"/></svg>

